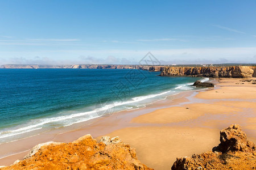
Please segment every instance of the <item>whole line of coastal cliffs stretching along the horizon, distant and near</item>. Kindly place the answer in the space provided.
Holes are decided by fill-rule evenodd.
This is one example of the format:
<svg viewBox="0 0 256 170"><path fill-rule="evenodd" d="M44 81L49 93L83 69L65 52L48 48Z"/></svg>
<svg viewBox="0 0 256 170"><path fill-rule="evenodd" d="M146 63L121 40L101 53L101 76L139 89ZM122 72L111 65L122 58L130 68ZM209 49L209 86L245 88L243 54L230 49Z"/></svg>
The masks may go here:
<svg viewBox="0 0 256 170"><path fill-rule="evenodd" d="M159 71L160 76L200 76L213 78L256 77L255 66L169 67L152 65L2 65L2 69L139 69Z"/></svg>

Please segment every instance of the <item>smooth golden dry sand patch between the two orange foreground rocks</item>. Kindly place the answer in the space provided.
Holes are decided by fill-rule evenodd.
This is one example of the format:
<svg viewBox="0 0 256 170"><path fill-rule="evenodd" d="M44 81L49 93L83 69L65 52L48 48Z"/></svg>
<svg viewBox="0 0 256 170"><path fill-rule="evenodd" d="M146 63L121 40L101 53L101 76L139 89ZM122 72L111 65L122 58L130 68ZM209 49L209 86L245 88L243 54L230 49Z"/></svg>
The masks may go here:
<svg viewBox="0 0 256 170"><path fill-rule="evenodd" d="M171 169L176 157L200 154L219 143L218 129L189 126L125 128L108 135L135 147L138 159L155 169Z"/></svg>

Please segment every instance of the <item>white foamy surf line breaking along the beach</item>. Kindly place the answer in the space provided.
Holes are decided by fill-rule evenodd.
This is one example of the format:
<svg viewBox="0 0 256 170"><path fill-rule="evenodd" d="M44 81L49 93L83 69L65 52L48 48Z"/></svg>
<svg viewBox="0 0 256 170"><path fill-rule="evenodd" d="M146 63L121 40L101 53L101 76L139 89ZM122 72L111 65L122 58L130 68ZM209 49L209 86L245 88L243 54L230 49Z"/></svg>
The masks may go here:
<svg viewBox="0 0 256 170"><path fill-rule="evenodd" d="M209 78L201 78L202 82L209 80ZM189 82L189 81L188 81ZM195 88L189 87L191 83L182 83L180 82L174 84L174 87L169 87L168 89L164 89L162 91L147 91L147 94L141 94L138 96L130 97L127 100L113 100L106 105L97 104L94 105L85 105L84 107L78 108L77 111L73 111L70 114L52 114L48 117L35 118L31 119L31 121L23 122L22 124L13 126L11 128L3 128L1 131L1 139L0 145L2 143L9 143L13 141L18 141L19 139L27 138L30 136L38 135L45 133L48 130L52 129L61 129L66 126L71 126L73 124L79 124L80 122L90 122L90 120L94 120L98 117L106 117L102 114L112 114L110 112L123 112L123 111L133 111L135 109L141 109L146 107L147 105L151 105L161 100L166 100L168 96L175 96L180 92L184 91L195 91ZM176 87L175 87L176 85ZM181 86L180 86L181 85ZM111 97L110 97L111 99ZM68 111L67 111L68 112ZM86 116L88 115L88 116ZM80 118L79 118L80 117ZM76 119L79 118L79 119ZM30 119L28 119L30 120ZM69 120L67 122L63 122L65 120ZM51 128L51 123L55 122L55 128ZM54 123L53 123L54 124ZM60 125L58 125L60 124ZM86 123L85 123L86 124ZM1 156L0 156L1 158Z"/></svg>

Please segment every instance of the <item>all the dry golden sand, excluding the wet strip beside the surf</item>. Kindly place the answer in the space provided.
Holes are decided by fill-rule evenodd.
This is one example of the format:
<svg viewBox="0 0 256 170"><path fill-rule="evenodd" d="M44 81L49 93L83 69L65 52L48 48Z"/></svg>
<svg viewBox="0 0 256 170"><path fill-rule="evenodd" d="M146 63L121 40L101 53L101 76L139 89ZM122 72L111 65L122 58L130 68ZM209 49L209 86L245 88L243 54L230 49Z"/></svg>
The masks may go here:
<svg viewBox="0 0 256 170"><path fill-rule="evenodd" d="M176 157L212 150L219 143L219 131L230 124L240 124L256 143L256 84L240 80L220 79L216 88L190 99L196 103L143 114L131 121L143 127L107 135L135 147L139 160L155 169L170 169Z"/></svg>

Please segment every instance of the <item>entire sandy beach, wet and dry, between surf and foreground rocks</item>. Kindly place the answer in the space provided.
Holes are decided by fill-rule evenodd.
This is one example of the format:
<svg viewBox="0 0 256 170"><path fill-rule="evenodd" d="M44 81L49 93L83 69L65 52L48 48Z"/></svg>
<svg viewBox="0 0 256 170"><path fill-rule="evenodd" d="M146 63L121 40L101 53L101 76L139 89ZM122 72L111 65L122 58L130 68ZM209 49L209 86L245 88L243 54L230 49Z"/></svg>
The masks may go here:
<svg viewBox="0 0 256 170"><path fill-rule="evenodd" d="M256 84L241 80L245 79L217 79L216 87L209 90L184 92L143 109L2 144L0 165L22 159L39 143L71 142L85 134L96 139L118 136L136 148L143 164L154 169L170 169L176 157L212 150L219 143L220 130L230 124L240 124L256 143Z"/></svg>

